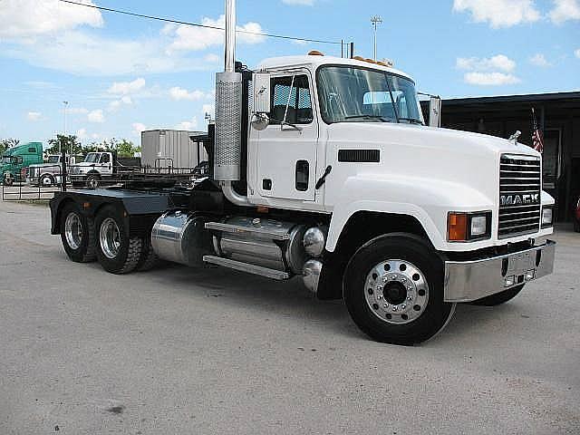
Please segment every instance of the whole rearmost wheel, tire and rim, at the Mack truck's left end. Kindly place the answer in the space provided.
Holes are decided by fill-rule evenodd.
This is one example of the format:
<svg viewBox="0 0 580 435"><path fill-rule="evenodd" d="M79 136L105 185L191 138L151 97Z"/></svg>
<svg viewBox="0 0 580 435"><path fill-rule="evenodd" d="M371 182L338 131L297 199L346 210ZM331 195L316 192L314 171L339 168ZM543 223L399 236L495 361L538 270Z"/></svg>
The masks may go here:
<svg viewBox="0 0 580 435"><path fill-rule="evenodd" d="M83 216L76 204L67 204L61 212L61 240L64 251L77 263L88 263L96 258L94 222Z"/></svg>

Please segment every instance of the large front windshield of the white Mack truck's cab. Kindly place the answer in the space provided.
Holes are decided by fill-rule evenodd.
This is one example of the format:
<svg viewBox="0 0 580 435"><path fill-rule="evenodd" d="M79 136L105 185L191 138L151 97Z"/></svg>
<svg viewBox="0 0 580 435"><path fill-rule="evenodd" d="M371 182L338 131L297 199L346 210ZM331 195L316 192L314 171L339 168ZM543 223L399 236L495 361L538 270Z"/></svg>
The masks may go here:
<svg viewBox="0 0 580 435"><path fill-rule="evenodd" d="M318 96L326 123L423 123L415 84L391 73L326 66L318 73Z"/></svg>

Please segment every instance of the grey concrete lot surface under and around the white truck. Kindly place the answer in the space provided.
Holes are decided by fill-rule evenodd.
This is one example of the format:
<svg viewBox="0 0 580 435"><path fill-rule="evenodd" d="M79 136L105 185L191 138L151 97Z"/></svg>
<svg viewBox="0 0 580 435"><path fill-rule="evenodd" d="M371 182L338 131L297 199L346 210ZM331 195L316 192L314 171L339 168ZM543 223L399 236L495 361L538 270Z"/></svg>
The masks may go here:
<svg viewBox="0 0 580 435"><path fill-rule="evenodd" d="M428 343L368 340L296 281L67 259L0 203L0 433L580 433L580 234L556 273L458 305Z"/></svg>

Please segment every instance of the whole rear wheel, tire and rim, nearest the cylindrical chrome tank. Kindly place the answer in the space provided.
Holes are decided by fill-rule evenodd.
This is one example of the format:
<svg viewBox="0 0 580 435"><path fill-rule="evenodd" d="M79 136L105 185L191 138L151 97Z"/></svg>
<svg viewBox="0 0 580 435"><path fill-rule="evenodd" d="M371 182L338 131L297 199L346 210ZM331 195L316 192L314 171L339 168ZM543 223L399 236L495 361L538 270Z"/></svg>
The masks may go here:
<svg viewBox="0 0 580 435"><path fill-rule="evenodd" d="M111 274L128 274L140 262L142 239L129 237L121 210L106 206L95 220L97 228L97 257Z"/></svg>

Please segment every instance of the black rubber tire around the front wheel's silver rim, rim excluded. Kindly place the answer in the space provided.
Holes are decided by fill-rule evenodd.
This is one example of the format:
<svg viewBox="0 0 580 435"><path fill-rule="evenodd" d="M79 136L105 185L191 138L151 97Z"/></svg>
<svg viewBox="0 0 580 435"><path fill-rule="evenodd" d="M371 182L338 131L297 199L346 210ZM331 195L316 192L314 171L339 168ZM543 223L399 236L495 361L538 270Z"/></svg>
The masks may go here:
<svg viewBox="0 0 580 435"><path fill-rule="evenodd" d="M422 312L406 324L382 320L372 312L366 300L367 275L376 265L391 259L418 267L429 285L429 297ZM455 311L455 304L443 302L443 263L440 257L421 237L402 233L377 237L354 254L345 272L344 300L354 323L363 333L378 342L392 344L411 345L430 339L449 322Z"/></svg>

